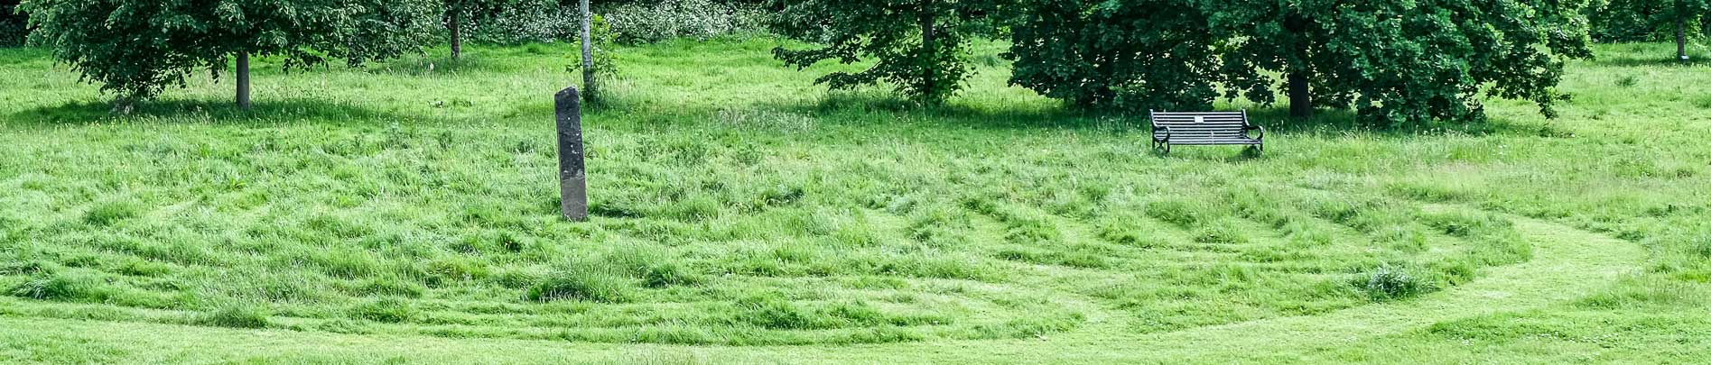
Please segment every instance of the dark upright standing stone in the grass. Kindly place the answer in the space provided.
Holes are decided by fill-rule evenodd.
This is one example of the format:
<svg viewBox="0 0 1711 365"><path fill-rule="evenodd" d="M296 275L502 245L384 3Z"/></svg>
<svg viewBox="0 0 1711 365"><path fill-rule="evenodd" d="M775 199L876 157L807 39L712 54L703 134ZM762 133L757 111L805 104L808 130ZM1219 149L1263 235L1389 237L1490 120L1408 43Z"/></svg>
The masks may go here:
<svg viewBox="0 0 1711 365"><path fill-rule="evenodd" d="M558 114L558 191L565 218L589 220L589 174L582 162L582 96L566 87L554 97Z"/></svg>

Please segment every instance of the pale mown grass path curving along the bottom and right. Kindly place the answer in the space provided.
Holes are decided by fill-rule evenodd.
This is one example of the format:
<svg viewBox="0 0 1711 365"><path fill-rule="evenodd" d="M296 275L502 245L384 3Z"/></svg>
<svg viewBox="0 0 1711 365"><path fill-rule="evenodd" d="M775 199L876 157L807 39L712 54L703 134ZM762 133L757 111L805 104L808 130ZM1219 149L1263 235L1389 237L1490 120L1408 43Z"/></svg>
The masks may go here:
<svg viewBox="0 0 1711 365"><path fill-rule="evenodd" d="M1430 206L1444 210L1446 206ZM669 346L524 339L347 336L241 331L147 322L0 319L0 358L34 362L1329 362L1326 350L1442 321L1560 304L1610 285L1646 258L1639 246L1567 225L1509 217L1533 242L1533 259L1489 268L1471 283L1420 298L1324 316L1282 317L1174 333L1134 334L1114 312L1040 339L927 341L856 346ZM1073 300L1081 302L1081 300ZM1088 304L1092 305L1092 304ZM56 348L80 348L56 356ZM92 350L98 348L98 350ZM1372 355L1372 358L1410 358ZM1413 358L1430 362L1430 358Z"/></svg>

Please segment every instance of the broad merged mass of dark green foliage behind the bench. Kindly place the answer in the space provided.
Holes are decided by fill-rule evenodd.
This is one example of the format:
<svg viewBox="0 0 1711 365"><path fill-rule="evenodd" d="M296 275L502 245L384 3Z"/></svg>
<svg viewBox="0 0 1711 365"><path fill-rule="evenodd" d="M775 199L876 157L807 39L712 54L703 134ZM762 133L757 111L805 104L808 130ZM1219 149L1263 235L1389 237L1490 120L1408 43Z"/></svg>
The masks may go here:
<svg viewBox="0 0 1711 365"><path fill-rule="evenodd" d="M1025 2L1013 82L1078 106L1145 111L1228 99L1376 125L1478 119L1483 97L1548 116L1567 58L1591 56L1579 5L1533 2ZM1278 77L1282 75L1282 77Z"/></svg>

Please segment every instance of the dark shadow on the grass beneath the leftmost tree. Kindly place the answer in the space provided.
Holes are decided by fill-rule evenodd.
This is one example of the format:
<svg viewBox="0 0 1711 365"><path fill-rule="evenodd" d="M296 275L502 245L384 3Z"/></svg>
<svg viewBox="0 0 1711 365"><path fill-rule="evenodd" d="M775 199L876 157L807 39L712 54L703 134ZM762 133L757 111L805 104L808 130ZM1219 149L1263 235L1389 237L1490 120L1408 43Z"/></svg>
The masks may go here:
<svg viewBox="0 0 1711 365"><path fill-rule="evenodd" d="M317 99L274 99L255 101L245 111L231 101L209 99L157 99L139 102L130 114L115 114L110 102L67 102L60 106L34 107L5 116L12 125L22 126L75 126L75 125L111 125L111 123L185 123L185 125L375 125L375 123L424 123L445 125L440 116L402 114L378 111L347 102L329 102Z"/></svg>

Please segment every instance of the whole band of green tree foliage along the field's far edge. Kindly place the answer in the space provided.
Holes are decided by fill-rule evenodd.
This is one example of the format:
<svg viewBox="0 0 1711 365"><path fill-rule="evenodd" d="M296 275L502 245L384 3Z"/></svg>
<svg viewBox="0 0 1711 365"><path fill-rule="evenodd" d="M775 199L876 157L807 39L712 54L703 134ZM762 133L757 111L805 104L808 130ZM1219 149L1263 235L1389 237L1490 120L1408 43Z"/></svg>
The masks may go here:
<svg viewBox="0 0 1711 365"><path fill-rule="evenodd" d="M3 3L0 3L3 5ZM1295 116L1353 109L1374 125L1478 119L1485 97L1554 114L1562 63L1598 39L1658 39L1701 29L1708 0L1321 2L1321 0L666 0L594 2L618 43L707 39L758 29L816 43L777 48L785 65L862 63L818 78L832 89L885 84L938 104L968 77L970 39L1009 38L1013 85L1078 107L1206 109L1220 96ZM577 12L553 0L44 0L41 36L108 90L149 97L240 53L287 67L359 65L424 44L424 24L471 38L573 41ZM120 12L123 9L123 12ZM301 10L298 10L301 9ZM777 10L777 14L767 14ZM111 20L108 15L118 15ZM1588 17L1596 29L1590 29ZM98 24L99 22L99 24ZM3 24L0 24L3 26ZM217 29L217 31L209 31ZM0 27L0 36L3 27ZM154 39L133 46L130 38ZM3 38L0 38L3 41ZM613 39L606 39L613 41ZM123 46L120 43L125 43ZM609 55L602 55L609 56ZM145 61L130 61L145 60ZM601 63L601 61L597 61ZM607 68L604 61L595 68Z"/></svg>

